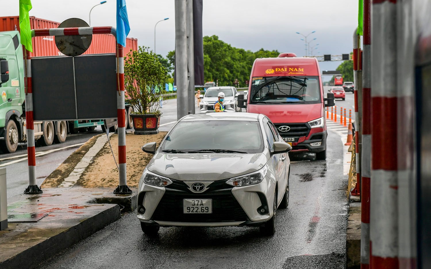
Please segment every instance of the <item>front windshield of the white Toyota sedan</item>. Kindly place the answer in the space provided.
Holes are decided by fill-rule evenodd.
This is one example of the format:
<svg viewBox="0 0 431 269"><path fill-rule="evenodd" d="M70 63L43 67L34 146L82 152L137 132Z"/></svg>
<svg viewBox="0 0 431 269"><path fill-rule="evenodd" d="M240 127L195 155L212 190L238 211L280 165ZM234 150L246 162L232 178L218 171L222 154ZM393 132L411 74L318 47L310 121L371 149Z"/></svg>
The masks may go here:
<svg viewBox="0 0 431 269"><path fill-rule="evenodd" d="M175 125L160 146L160 151L221 150L263 152L263 139L257 121L185 121ZM208 150L206 152L205 150ZM214 151L214 152L216 152ZM178 152L181 153L181 152Z"/></svg>

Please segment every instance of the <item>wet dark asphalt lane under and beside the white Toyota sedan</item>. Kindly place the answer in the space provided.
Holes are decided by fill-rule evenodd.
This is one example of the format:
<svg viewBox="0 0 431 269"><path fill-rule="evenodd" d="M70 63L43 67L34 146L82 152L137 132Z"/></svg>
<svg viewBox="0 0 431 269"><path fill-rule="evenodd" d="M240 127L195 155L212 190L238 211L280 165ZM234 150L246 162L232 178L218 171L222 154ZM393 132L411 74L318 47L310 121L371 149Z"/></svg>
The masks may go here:
<svg viewBox="0 0 431 269"><path fill-rule="evenodd" d="M132 212L38 268L342 269L347 176L340 136L331 130L328 145L326 161L291 164L290 204L278 210L273 237L253 227L172 227L149 238Z"/></svg>

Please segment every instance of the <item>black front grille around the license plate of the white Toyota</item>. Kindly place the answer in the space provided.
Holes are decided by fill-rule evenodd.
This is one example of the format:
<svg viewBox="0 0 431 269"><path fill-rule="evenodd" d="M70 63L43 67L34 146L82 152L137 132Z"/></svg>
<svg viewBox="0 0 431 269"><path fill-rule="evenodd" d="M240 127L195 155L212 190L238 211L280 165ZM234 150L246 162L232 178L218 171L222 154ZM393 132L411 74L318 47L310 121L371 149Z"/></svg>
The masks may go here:
<svg viewBox="0 0 431 269"><path fill-rule="evenodd" d="M166 187L152 220L201 223L247 221L247 214L232 195L232 188L226 184L226 180L213 182L202 193L191 192L182 181L172 181L174 183ZM183 199L212 199L212 213L185 214Z"/></svg>

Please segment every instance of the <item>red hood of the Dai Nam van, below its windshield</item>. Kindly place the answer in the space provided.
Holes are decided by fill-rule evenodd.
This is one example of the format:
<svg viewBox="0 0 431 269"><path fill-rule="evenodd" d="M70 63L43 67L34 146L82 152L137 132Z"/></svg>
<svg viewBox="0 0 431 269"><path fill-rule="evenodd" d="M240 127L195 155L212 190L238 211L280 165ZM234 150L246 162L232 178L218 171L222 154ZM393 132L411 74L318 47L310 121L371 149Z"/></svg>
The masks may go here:
<svg viewBox="0 0 431 269"><path fill-rule="evenodd" d="M322 104L247 104L247 112L264 114L273 123L305 123L323 117Z"/></svg>

